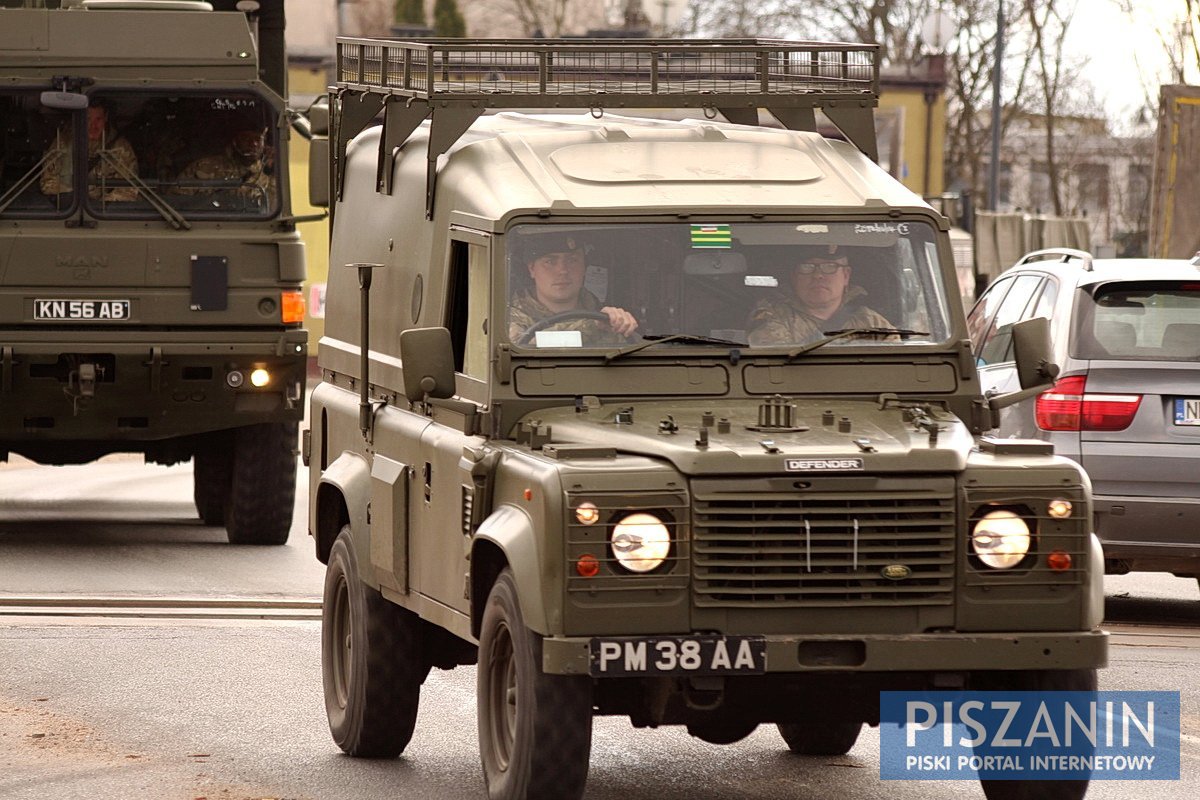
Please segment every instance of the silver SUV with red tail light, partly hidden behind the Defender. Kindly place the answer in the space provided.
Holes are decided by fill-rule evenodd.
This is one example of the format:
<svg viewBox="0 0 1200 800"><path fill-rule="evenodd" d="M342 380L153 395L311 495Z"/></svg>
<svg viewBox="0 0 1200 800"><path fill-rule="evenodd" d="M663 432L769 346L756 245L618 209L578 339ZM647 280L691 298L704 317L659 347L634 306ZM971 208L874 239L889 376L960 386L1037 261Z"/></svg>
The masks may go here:
<svg viewBox="0 0 1200 800"><path fill-rule="evenodd" d="M1012 327L1050 320L1057 383L1000 416L1092 479L1109 573L1200 578L1200 258L1025 255L967 319L988 393L1016 387Z"/></svg>

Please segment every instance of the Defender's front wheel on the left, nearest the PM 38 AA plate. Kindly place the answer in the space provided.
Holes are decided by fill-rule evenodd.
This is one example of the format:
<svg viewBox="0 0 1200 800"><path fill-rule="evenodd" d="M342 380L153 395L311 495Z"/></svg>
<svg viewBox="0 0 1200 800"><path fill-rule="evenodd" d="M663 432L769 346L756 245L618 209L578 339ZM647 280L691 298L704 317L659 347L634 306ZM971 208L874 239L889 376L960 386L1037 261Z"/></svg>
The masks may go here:
<svg viewBox="0 0 1200 800"><path fill-rule="evenodd" d="M484 608L476 697L491 800L576 800L592 753L592 680L541 670L541 636L524 625L510 570Z"/></svg>

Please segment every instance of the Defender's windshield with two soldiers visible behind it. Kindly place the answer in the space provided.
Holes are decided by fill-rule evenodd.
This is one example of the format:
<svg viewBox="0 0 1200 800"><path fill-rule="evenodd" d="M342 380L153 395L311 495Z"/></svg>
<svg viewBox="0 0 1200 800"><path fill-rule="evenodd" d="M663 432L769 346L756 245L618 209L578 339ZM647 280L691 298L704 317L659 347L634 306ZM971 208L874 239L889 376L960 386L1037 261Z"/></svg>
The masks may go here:
<svg viewBox="0 0 1200 800"><path fill-rule="evenodd" d="M937 239L923 222L522 224L505 239L520 347L948 337Z"/></svg>

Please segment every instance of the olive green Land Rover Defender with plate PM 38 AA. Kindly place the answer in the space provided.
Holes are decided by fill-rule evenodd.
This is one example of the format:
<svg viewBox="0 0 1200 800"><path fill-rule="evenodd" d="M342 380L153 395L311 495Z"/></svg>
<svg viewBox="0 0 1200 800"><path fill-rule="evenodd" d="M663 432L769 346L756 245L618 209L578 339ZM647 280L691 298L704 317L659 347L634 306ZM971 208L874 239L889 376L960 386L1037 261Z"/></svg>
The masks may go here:
<svg viewBox="0 0 1200 800"><path fill-rule="evenodd" d="M1094 690L1087 477L982 435L1046 330L984 397L947 222L871 160L876 58L338 40L302 452L342 750L401 753L472 663L505 800L581 796L594 715L845 753L881 690ZM697 119L613 114L664 107ZM798 276L874 315L793 337Z"/></svg>

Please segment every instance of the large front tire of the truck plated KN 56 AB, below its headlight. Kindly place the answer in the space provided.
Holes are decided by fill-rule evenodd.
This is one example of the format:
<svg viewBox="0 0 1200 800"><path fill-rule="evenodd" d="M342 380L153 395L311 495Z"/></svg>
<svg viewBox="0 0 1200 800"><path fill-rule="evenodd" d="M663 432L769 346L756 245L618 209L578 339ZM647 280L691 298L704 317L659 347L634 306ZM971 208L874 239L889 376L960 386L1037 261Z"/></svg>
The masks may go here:
<svg viewBox="0 0 1200 800"><path fill-rule="evenodd" d="M234 545L286 545L296 494L296 425L234 431L226 533Z"/></svg>

